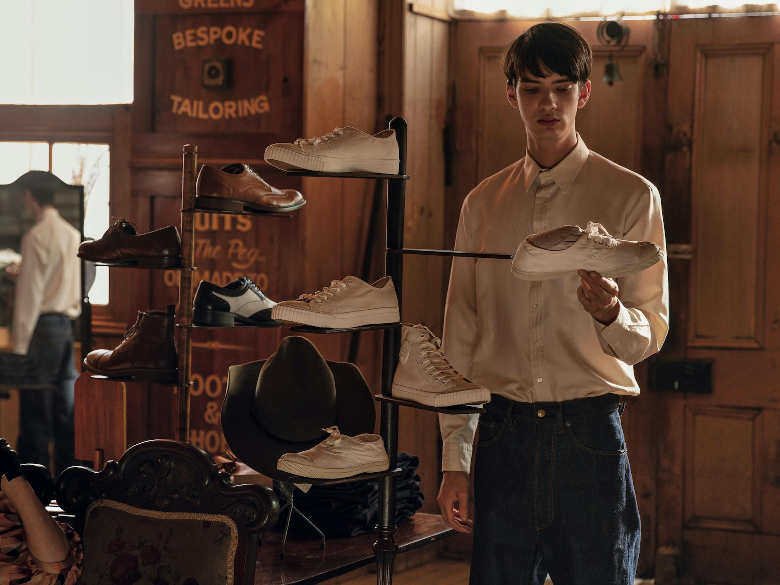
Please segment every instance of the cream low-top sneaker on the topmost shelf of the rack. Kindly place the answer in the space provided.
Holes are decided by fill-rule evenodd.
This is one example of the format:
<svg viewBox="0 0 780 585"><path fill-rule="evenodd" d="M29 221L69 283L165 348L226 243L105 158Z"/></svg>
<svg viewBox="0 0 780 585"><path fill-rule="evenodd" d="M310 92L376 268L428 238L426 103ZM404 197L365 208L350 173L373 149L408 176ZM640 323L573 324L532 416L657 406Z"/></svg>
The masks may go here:
<svg viewBox="0 0 780 585"><path fill-rule="evenodd" d="M345 126L317 138L279 142L265 149L265 160L285 171L378 172L398 174L399 150L395 130L367 134Z"/></svg>

